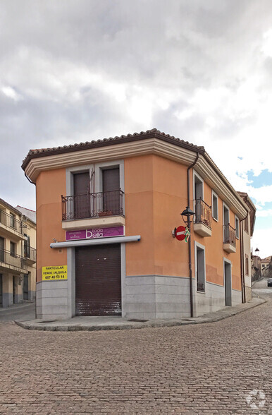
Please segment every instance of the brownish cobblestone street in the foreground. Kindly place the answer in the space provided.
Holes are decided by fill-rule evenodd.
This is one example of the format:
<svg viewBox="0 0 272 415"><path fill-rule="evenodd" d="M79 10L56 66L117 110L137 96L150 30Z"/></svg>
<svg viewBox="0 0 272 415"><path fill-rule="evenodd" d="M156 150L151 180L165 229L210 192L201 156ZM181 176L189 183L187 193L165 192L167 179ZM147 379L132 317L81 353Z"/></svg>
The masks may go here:
<svg viewBox="0 0 272 415"><path fill-rule="evenodd" d="M255 288L267 303L218 323L120 332L0 323L0 413L272 414L272 289Z"/></svg>

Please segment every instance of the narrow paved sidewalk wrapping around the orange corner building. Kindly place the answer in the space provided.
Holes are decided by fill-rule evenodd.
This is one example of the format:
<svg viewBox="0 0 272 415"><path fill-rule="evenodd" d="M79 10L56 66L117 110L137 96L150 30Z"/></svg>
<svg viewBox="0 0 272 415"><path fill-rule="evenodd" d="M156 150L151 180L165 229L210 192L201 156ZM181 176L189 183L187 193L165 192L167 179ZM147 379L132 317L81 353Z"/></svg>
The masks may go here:
<svg viewBox="0 0 272 415"><path fill-rule="evenodd" d="M239 304L235 307L225 307L215 313L204 314L200 317L183 318L173 320L125 320L120 316L100 316L100 317L73 317L68 320L30 320L16 321L15 323L27 330L46 330L46 331L77 331L77 330L125 330L144 327L171 327L175 325L214 323L223 318L231 317L249 308L266 303L266 300L254 297L251 301Z"/></svg>

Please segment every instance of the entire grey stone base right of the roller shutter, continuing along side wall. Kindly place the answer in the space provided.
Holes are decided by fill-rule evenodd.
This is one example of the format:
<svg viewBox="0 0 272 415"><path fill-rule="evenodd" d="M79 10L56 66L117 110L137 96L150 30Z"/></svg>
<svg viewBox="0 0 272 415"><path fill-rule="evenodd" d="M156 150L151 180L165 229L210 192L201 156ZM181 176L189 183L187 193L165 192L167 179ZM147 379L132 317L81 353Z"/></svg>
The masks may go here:
<svg viewBox="0 0 272 415"><path fill-rule="evenodd" d="M194 317L225 307L225 287L205 283L197 292L192 280ZM241 291L232 290L232 305L242 303ZM190 280L185 277L141 275L125 278L123 317L140 320L190 317Z"/></svg>

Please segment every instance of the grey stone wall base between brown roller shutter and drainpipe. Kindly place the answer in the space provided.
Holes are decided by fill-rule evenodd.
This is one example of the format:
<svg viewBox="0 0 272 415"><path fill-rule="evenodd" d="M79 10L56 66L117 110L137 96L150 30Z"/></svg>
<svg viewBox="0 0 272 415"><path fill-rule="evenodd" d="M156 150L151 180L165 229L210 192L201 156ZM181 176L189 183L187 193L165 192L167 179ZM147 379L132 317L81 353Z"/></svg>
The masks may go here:
<svg viewBox="0 0 272 415"><path fill-rule="evenodd" d="M141 320L190 317L189 278L125 277L123 317Z"/></svg>

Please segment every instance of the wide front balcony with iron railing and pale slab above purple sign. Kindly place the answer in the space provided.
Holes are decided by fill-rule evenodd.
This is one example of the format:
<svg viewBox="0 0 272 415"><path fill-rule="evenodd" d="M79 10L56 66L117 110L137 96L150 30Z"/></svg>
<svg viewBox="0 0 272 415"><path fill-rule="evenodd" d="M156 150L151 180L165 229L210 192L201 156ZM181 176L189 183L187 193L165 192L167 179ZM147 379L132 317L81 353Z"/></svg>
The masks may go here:
<svg viewBox="0 0 272 415"><path fill-rule="evenodd" d="M124 193L117 191L61 196L62 227L66 230L87 227L123 226Z"/></svg>

